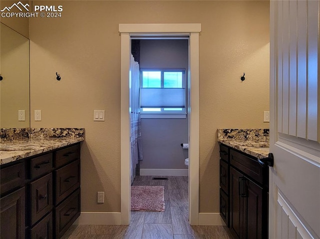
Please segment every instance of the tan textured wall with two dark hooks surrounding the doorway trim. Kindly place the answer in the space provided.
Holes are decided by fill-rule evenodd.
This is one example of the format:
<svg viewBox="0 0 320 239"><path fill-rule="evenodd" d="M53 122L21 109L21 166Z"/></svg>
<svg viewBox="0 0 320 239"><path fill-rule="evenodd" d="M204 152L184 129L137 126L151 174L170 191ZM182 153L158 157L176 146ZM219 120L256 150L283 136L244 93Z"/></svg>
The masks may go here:
<svg viewBox="0 0 320 239"><path fill-rule="evenodd" d="M30 19L31 112L42 110L42 121L32 119L31 127L85 128L82 212L120 211L118 23L201 23L199 210L218 212L216 129L268 128L262 122L269 108L268 1L45 4L62 4L63 12L61 18ZM93 122L93 109L105 110L105 122ZM97 191L105 191L102 205L95 203Z"/></svg>

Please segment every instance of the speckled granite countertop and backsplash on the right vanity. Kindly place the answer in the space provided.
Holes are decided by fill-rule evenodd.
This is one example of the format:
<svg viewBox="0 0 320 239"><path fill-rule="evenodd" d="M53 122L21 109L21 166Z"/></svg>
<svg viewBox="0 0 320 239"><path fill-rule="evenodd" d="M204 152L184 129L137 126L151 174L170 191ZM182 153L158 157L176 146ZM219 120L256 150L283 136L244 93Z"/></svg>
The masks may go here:
<svg viewBox="0 0 320 239"><path fill-rule="evenodd" d="M268 157L267 129L218 129L218 142L256 158Z"/></svg>

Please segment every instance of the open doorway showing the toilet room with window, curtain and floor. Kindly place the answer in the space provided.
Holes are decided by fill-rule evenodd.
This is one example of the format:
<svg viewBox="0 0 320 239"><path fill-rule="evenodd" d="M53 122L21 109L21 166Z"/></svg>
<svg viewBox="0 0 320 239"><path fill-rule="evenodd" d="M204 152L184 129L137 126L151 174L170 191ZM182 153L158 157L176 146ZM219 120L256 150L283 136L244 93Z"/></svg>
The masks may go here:
<svg viewBox="0 0 320 239"><path fill-rule="evenodd" d="M157 215L153 223L188 216L188 147L182 147L188 144L188 39L131 37L131 208L146 211L146 218ZM146 191L156 189L163 190L156 199L164 206L148 208L154 195ZM160 208L162 214L148 212Z"/></svg>

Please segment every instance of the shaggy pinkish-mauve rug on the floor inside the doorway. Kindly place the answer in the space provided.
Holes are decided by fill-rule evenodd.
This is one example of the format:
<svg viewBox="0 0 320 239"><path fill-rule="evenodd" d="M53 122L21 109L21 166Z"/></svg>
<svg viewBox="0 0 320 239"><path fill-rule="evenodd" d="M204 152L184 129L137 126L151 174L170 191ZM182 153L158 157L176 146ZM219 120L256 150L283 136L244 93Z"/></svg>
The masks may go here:
<svg viewBox="0 0 320 239"><path fill-rule="evenodd" d="M131 211L164 212L164 186L131 186Z"/></svg>

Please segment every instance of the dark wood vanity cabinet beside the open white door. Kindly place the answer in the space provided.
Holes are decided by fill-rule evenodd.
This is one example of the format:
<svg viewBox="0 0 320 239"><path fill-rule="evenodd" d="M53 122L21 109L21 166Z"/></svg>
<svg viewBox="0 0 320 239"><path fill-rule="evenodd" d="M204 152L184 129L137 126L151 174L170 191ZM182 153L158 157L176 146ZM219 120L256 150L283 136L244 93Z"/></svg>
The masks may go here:
<svg viewBox="0 0 320 239"><path fill-rule="evenodd" d="M221 218L236 238L266 239L268 169L262 168L254 157L224 145L220 145L220 155L225 149L227 163L220 157Z"/></svg>

